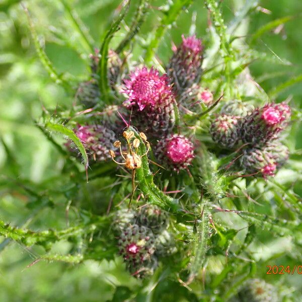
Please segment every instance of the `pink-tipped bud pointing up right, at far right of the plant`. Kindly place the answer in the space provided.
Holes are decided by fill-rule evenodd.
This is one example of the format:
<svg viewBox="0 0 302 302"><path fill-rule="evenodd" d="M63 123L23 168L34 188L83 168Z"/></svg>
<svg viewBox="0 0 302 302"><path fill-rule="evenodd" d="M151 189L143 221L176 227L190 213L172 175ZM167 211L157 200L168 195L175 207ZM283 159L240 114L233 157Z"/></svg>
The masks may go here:
<svg viewBox="0 0 302 302"><path fill-rule="evenodd" d="M287 104L267 104L256 108L242 121L241 139L243 142L264 144L276 139L290 118Z"/></svg>

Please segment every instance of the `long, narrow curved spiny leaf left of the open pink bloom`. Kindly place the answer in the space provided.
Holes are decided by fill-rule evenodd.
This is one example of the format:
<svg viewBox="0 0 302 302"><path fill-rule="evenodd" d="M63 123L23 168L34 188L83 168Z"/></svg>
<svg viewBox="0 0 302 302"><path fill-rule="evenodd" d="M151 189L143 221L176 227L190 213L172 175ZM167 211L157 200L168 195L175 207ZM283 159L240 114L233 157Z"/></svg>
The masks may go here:
<svg viewBox="0 0 302 302"><path fill-rule="evenodd" d="M115 20L115 22L110 26L109 30L107 31L105 38L102 42L100 54L101 58L99 61L98 66L98 74L99 74L99 86L101 91L101 96L106 103L111 103L110 100L110 88L108 85L108 78L107 78L107 63L108 63L108 50L109 50L109 43L113 38L114 34L120 29L120 24L125 17L125 14L128 12L130 2L126 3L126 8L124 11L119 15L119 17Z"/></svg>

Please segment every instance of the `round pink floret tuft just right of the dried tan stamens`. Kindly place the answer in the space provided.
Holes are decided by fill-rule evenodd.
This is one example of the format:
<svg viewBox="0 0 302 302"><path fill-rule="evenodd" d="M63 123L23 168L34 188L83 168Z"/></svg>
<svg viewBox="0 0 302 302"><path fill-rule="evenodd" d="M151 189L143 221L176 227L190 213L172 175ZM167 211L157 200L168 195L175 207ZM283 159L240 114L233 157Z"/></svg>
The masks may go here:
<svg viewBox="0 0 302 302"><path fill-rule="evenodd" d="M192 142L183 135L174 135L167 142L166 155L173 164L191 162L193 151Z"/></svg>

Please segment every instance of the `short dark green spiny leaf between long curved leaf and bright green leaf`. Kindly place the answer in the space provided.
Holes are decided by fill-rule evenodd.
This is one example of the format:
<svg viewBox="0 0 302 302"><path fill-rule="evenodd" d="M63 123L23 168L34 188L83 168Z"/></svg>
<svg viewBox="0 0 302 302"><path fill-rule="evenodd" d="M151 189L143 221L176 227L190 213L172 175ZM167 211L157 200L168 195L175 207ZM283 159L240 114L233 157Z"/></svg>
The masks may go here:
<svg viewBox="0 0 302 302"><path fill-rule="evenodd" d="M136 10L135 17L133 22L130 26L130 29L124 39L120 42L118 47L116 48L115 52L120 53L134 38L134 36L138 33L140 26L145 20L146 12L148 8L148 1L149 0L140 0L139 6Z"/></svg>

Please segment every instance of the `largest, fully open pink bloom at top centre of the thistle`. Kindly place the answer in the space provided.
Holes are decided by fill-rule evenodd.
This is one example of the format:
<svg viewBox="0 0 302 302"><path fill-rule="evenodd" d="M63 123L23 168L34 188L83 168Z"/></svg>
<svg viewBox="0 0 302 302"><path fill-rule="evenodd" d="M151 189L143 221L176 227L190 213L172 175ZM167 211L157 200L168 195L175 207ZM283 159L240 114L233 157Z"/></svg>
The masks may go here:
<svg viewBox="0 0 302 302"><path fill-rule="evenodd" d="M153 67L150 70L146 66L137 68L130 73L129 78L124 80L122 90L128 96L128 100L124 102L127 107L137 104L141 111L146 106L160 104L167 95L172 94L167 75L160 76L159 71Z"/></svg>

